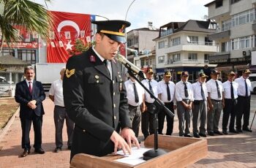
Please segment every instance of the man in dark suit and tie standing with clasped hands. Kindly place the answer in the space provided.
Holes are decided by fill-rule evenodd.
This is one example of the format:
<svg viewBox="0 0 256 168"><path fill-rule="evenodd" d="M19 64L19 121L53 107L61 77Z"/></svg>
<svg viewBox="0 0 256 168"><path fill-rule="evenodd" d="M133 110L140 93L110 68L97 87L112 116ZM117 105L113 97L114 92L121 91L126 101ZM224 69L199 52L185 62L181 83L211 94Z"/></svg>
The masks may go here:
<svg viewBox="0 0 256 168"><path fill-rule="evenodd" d="M21 145L24 149L22 157L30 153L29 131L31 122L34 127L34 152L43 154L42 149L42 115L45 114L42 101L45 99L45 91L42 83L33 80L34 68L26 66L24 69L26 80L16 84L15 100L20 103L20 122L22 129Z"/></svg>

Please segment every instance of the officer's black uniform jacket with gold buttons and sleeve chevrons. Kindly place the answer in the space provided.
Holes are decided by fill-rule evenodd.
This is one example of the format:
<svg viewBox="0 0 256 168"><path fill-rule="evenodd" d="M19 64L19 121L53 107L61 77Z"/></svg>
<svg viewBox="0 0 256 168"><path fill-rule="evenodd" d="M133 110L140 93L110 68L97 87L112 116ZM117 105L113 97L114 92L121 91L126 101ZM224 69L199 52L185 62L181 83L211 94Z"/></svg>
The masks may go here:
<svg viewBox="0 0 256 168"><path fill-rule="evenodd" d="M104 156L113 152L110 136L131 128L121 64L111 61L112 79L91 48L67 61L63 80L64 104L75 122L71 159L76 153Z"/></svg>

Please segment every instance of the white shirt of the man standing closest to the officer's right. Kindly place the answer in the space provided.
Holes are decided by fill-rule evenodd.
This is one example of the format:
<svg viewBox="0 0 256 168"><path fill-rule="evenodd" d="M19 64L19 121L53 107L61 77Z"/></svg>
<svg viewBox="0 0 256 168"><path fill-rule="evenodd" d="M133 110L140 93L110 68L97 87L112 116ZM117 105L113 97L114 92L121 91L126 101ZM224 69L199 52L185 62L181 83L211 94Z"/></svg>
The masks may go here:
<svg viewBox="0 0 256 168"><path fill-rule="evenodd" d="M139 106L143 102L143 94L145 93L144 88L137 82L135 81L135 86L138 92L138 97L139 97L139 102L135 102L135 90L134 90L134 82L132 80L127 80L125 83L125 88L127 88L127 99L128 99L128 104L132 106Z"/></svg>

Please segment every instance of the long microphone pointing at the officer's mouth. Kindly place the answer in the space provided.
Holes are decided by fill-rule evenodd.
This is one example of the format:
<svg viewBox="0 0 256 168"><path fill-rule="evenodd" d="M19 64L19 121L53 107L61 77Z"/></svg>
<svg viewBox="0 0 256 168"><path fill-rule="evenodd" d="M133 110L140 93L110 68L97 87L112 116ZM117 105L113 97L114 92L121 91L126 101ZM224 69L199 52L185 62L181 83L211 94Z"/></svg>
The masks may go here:
<svg viewBox="0 0 256 168"><path fill-rule="evenodd" d="M137 66L135 66L135 64L132 64L130 61L128 61L127 58L124 58L124 56L122 56L119 53L116 54L116 58L119 62L121 62L121 64L127 67L127 69L132 70L132 72L135 72L135 74L139 75L144 80L146 79L146 75L144 74L144 72L141 69L139 69Z"/></svg>

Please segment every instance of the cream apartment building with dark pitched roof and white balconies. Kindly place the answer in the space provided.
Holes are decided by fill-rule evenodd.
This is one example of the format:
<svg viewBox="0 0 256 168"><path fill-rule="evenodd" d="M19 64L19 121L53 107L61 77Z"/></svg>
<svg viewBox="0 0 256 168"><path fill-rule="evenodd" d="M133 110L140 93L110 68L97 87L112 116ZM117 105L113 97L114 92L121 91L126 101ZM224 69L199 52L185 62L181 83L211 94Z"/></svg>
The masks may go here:
<svg viewBox="0 0 256 168"><path fill-rule="evenodd" d="M189 72L189 81L194 82L200 72L217 66L208 64L208 57L217 52L217 45L208 39L215 32L216 23L211 20L188 20L170 22L160 27L157 43L157 76L162 78L165 71L173 74L173 81L180 80L182 71Z"/></svg>

